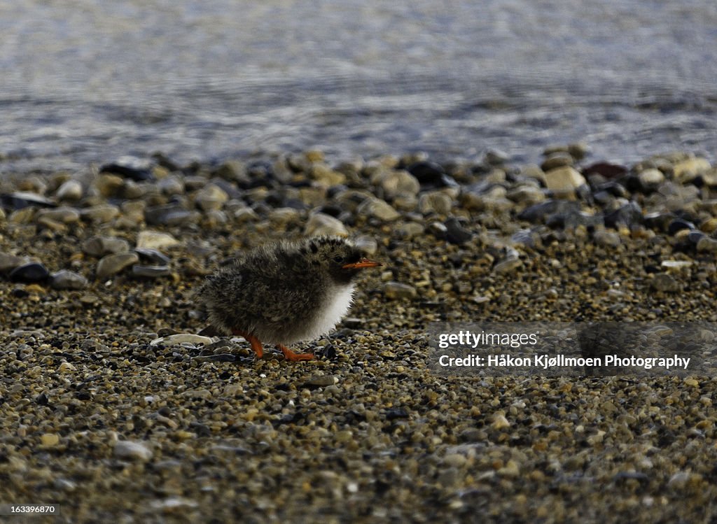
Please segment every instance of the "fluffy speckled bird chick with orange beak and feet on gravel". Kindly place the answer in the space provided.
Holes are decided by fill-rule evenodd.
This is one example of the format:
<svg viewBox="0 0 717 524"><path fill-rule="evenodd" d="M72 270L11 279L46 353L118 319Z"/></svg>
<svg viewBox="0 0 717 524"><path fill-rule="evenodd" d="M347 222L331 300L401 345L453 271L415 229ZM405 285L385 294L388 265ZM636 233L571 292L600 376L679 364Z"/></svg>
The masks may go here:
<svg viewBox="0 0 717 524"><path fill-rule="evenodd" d="M333 329L351 307L356 275L380 265L338 237L275 242L217 270L196 297L216 330L241 335L258 358L273 343L290 361L310 360L286 346Z"/></svg>

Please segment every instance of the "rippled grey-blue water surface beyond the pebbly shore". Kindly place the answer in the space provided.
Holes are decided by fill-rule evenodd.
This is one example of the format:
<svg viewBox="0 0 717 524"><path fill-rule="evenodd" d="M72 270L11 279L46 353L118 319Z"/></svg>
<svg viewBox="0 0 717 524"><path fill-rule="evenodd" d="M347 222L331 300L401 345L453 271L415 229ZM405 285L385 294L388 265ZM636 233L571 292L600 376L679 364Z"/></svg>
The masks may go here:
<svg viewBox="0 0 717 524"><path fill-rule="evenodd" d="M715 157L713 0L397 4L3 2L0 173L313 147L536 161L577 140Z"/></svg>

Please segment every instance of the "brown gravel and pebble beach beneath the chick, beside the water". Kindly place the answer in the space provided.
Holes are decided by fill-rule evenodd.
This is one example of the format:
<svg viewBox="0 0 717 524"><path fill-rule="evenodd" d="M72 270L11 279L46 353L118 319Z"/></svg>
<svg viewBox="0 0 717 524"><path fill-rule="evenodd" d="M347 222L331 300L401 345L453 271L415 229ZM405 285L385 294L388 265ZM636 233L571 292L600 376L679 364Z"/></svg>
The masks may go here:
<svg viewBox="0 0 717 524"><path fill-rule="evenodd" d="M156 155L0 182L9 522L712 522L717 379L438 376L433 321L717 321L717 168L320 151ZM271 239L348 235L348 318L257 361L192 291ZM198 334L199 333L199 334Z"/></svg>

